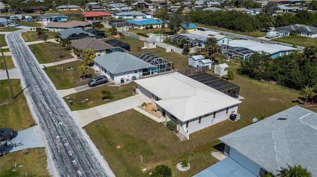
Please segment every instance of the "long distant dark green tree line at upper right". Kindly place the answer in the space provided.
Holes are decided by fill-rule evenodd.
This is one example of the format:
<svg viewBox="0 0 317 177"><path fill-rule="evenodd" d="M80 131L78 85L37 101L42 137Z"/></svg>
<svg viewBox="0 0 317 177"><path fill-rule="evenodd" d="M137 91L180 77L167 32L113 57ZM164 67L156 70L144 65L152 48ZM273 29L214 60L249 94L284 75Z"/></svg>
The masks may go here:
<svg viewBox="0 0 317 177"><path fill-rule="evenodd" d="M241 32L254 32L257 30L265 30L268 27L282 27L293 24L317 27L317 13L310 13L306 10L301 10L295 15L294 13L283 13L283 15L276 16L266 13L249 15L235 10L196 10L191 11L188 15L194 23Z"/></svg>

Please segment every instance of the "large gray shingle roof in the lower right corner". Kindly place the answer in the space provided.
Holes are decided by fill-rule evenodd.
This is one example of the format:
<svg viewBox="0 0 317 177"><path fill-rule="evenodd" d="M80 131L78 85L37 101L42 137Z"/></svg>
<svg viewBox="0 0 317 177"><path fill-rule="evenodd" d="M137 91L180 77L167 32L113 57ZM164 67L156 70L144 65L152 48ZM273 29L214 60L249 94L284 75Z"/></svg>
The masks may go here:
<svg viewBox="0 0 317 177"><path fill-rule="evenodd" d="M279 120L278 118L286 118ZM293 106L219 138L264 170L301 165L317 176L317 113Z"/></svg>

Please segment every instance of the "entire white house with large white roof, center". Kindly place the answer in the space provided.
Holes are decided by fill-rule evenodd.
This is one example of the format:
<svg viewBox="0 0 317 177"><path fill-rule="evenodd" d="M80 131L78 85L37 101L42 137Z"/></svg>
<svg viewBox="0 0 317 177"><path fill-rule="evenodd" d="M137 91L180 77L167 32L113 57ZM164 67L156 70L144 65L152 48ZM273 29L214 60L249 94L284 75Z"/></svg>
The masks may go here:
<svg viewBox="0 0 317 177"><path fill-rule="evenodd" d="M159 106L157 114L174 121L177 131L189 134L227 120L238 111L236 100L178 72L135 80L137 92Z"/></svg>

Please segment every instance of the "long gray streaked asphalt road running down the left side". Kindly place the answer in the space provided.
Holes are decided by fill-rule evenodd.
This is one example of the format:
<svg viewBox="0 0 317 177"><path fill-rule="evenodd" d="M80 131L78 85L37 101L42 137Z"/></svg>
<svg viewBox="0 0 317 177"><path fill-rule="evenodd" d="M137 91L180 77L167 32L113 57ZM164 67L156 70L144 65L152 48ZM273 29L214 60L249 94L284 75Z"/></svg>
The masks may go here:
<svg viewBox="0 0 317 177"><path fill-rule="evenodd" d="M22 86L30 84L24 93L32 115L44 133L52 176L114 177L103 156L74 121L69 107L39 67L21 38L21 31L5 37L20 71Z"/></svg>

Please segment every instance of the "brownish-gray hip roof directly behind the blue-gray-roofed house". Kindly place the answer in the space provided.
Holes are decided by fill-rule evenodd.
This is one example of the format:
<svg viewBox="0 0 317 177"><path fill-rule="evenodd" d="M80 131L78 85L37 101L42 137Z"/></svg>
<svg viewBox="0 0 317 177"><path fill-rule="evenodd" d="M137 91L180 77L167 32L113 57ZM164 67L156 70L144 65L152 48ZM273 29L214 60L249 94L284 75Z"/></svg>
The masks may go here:
<svg viewBox="0 0 317 177"><path fill-rule="evenodd" d="M91 37L85 37L79 40L75 40L70 45L81 50L85 50L87 48L91 48L93 50L104 50L108 48L114 48L112 45L107 44L104 41Z"/></svg>

